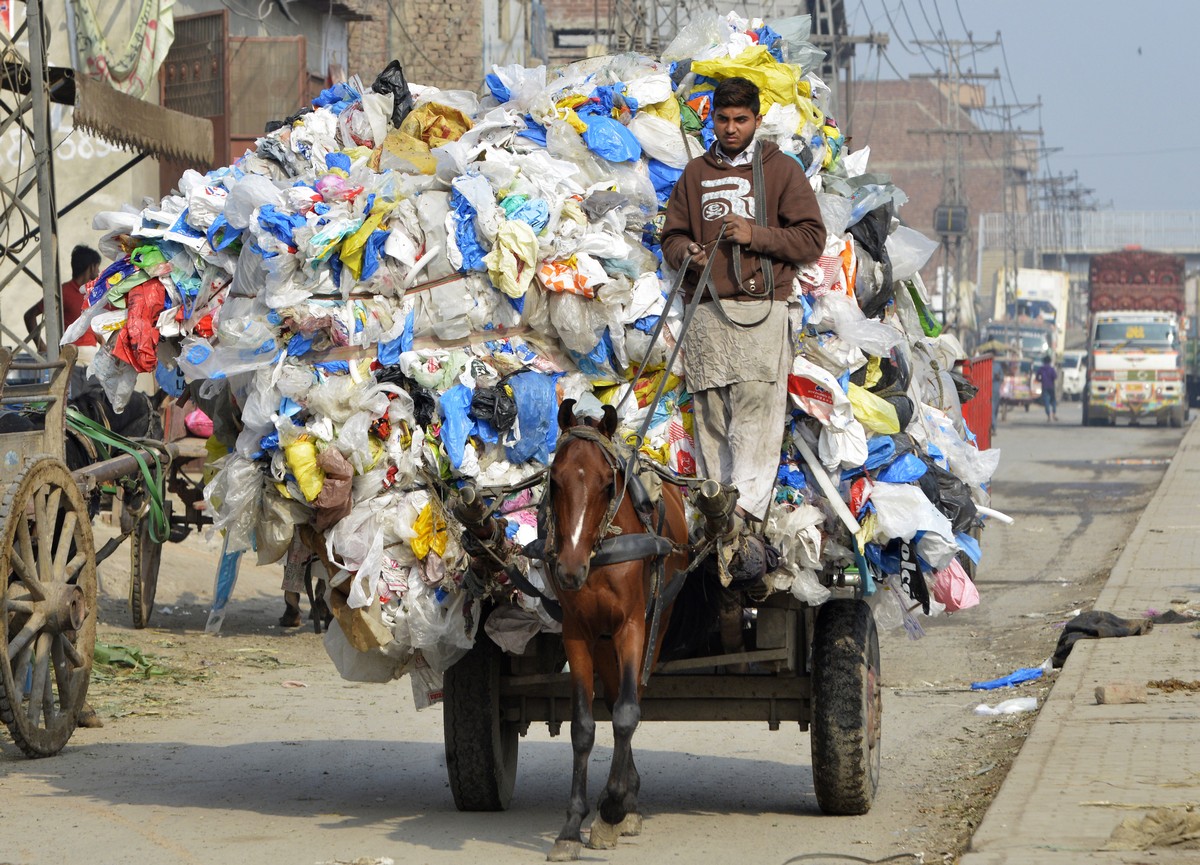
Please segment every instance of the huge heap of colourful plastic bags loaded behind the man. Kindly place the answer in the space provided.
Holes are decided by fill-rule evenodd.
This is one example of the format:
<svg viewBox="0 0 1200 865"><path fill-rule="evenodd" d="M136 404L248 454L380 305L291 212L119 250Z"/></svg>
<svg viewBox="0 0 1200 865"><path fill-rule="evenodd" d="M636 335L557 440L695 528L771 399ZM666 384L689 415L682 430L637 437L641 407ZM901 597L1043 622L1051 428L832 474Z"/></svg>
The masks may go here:
<svg viewBox="0 0 1200 865"><path fill-rule="evenodd" d="M961 554L978 559L967 533L998 452L974 446L961 347L925 308L935 245L899 224L905 197L869 152L847 152L808 24L701 17L661 60L496 68L484 97L409 88L395 65L372 88L338 84L233 166L100 214L114 264L65 342L102 337L92 372L118 406L149 372L210 408L206 498L230 551L277 561L298 527L317 533L343 675L436 683L472 645L481 591L511 600L486 625L508 649L557 626L503 576L468 590L440 491L538 475L565 398L622 404L625 433L649 416L644 453L695 473L686 382L664 370L682 306L666 305L656 239L713 142L714 85L749 78L758 138L804 167L828 229L793 286L768 588L820 603L820 575L857 567L888 595L881 621L918 632L914 609L977 600ZM503 494L516 546L536 537L536 500Z"/></svg>

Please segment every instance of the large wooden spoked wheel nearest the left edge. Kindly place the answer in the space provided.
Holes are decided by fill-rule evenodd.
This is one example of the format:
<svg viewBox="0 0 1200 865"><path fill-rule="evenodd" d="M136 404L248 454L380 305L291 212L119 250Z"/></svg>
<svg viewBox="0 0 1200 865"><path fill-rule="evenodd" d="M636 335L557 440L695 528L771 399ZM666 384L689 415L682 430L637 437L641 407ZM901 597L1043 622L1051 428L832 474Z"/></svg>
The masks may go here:
<svg viewBox="0 0 1200 865"><path fill-rule="evenodd" d="M67 744L96 644L96 551L66 465L37 457L0 503L0 720L30 757Z"/></svg>

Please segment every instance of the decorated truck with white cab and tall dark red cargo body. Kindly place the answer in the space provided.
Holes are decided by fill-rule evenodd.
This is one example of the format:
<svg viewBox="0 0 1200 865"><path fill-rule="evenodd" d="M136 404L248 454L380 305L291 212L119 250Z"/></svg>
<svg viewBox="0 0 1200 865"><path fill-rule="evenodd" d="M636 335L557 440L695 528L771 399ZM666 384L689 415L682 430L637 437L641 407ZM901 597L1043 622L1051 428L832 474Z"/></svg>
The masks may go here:
<svg viewBox="0 0 1200 865"><path fill-rule="evenodd" d="M1126 250L1088 268L1087 385L1082 422L1153 419L1182 426L1187 413L1183 259Z"/></svg>

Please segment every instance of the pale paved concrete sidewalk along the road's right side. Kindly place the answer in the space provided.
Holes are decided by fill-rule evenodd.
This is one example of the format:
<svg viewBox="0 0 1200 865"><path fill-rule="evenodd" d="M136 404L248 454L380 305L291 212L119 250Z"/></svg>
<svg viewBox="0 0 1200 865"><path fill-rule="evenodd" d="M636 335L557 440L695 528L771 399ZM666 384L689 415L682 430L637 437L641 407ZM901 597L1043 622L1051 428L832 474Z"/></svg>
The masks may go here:
<svg viewBox="0 0 1200 865"><path fill-rule="evenodd" d="M1200 422L1184 434L1094 608L1140 618L1172 600L1200 601ZM1200 861L1196 849L1102 852L1128 817L1200 811L1200 693L1096 703L1097 685L1170 678L1200 679L1194 624L1075 643L961 865Z"/></svg>

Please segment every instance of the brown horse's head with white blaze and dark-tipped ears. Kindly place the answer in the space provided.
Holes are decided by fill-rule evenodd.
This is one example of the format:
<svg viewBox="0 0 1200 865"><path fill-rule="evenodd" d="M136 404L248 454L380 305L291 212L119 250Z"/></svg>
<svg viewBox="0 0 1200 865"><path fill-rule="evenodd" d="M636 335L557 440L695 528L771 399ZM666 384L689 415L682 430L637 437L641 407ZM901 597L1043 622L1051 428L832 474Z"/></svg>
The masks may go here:
<svg viewBox="0 0 1200 865"><path fill-rule="evenodd" d="M592 553L620 475L604 444L594 435L570 435L572 427L588 427L611 439L617 431L617 412L605 406L601 420L581 421L575 418L574 400L564 401L558 410L558 428L564 438L550 464L553 537L547 541L554 549L556 582L564 589L578 590L588 578Z"/></svg>

